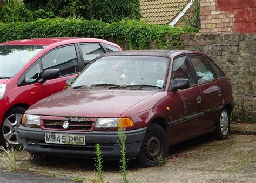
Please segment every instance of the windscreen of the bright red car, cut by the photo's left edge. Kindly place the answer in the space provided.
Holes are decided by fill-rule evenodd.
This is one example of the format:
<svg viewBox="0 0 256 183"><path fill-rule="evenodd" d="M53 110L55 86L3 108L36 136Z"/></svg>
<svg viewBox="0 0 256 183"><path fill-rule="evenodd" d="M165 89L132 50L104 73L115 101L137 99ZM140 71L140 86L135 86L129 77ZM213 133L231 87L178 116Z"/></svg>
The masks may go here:
<svg viewBox="0 0 256 183"><path fill-rule="evenodd" d="M0 79L14 77L45 46L0 46Z"/></svg>

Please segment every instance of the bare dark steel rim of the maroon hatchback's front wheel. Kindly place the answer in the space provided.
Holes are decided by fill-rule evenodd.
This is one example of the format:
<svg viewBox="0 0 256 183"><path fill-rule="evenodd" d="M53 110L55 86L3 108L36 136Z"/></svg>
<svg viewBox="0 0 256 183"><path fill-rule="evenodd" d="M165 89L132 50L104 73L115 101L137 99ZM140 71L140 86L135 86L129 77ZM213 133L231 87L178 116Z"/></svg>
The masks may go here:
<svg viewBox="0 0 256 183"><path fill-rule="evenodd" d="M163 155L164 147L163 140L157 134L150 134L144 145L144 154L151 163L157 162L157 157Z"/></svg>

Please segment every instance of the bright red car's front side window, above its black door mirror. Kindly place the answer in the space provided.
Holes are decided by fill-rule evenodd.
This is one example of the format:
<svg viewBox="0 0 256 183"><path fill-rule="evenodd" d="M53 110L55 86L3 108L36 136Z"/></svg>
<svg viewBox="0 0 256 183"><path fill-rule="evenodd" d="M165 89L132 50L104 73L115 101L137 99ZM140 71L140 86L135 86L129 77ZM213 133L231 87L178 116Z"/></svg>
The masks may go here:
<svg viewBox="0 0 256 183"><path fill-rule="evenodd" d="M74 45L55 49L42 57L43 70L59 69L60 76L78 72L77 53Z"/></svg>

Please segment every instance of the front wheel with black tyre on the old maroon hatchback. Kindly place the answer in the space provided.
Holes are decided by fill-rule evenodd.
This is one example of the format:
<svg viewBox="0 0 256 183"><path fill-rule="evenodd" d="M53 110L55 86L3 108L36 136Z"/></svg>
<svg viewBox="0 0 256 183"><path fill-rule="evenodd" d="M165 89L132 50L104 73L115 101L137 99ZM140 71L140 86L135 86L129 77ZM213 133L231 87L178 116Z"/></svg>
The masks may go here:
<svg viewBox="0 0 256 183"><path fill-rule="evenodd" d="M150 124L147 128L140 153L136 158L139 165L150 167L158 165L158 156L164 159L168 153L167 135L158 124Z"/></svg>

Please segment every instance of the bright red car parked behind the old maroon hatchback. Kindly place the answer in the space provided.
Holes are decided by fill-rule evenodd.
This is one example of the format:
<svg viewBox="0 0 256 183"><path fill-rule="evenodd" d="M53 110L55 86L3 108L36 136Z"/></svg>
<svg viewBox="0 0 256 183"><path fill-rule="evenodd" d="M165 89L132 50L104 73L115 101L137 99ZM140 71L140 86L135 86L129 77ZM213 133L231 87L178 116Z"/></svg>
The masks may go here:
<svg viewBox="0 0 256 183"><path fill-rule="evenodd" d="M117 44L91 38L40 38L0 44L0 144L21 144L23 113L38 100L63 90L67 77Z"/></svg>

